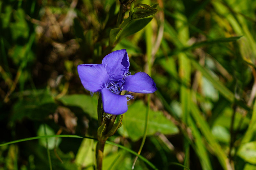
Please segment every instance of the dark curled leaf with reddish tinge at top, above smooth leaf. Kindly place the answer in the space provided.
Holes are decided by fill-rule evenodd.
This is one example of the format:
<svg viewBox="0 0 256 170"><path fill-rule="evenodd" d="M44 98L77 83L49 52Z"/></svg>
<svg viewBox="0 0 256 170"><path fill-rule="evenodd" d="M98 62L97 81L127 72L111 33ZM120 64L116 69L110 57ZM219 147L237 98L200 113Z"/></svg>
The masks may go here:
<svg viewBox="0 0 256 170"><path fill-rule="evenodd" d="M132 19L145 18L156 13L157 9L147 4L141 4L133 9Z"/></svg>

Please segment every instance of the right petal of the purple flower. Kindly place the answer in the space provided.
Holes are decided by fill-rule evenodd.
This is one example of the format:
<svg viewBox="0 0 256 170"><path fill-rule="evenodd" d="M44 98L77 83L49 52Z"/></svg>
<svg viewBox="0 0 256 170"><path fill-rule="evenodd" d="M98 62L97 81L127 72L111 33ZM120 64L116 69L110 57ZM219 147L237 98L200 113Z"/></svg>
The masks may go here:
<svg viewBox="0 0 256 170"><path fill-rule="evenodd" d="M123 88L126 91L138 93L153 93L157 90L154 80L143 72L126 76L124 78Z"/></svg>

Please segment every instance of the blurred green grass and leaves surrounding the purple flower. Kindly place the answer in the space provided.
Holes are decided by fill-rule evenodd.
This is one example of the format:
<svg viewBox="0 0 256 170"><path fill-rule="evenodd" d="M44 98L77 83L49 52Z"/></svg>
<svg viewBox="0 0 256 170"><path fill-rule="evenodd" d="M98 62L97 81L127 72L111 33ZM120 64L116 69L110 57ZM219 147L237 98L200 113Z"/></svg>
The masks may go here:
<svg viewBox="0 0 256 170"><path fill-rule="evenodd" d="M129 17L130 4L117 27L117 0L0 1L0 144L96 137L98 96L84 90L76 67L125 48L131 73L147 72L158 88L143 157L163 170L256 169L256 1L137 0L134 12L140 4L157 11ZM108 140L138 152L148 98L133 95ZM0 146L0 169L93 170L95 144L41 138ZM131 169L135 159L110 144L104 154L105 170ZM134 169L151 167L138 159Z"/></svg>

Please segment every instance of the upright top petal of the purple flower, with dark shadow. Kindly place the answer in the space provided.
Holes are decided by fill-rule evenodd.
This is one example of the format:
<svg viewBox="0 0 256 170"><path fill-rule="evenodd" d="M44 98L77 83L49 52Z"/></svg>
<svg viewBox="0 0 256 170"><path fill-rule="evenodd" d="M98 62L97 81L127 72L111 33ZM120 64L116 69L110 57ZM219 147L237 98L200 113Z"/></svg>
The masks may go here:
<svg viewBox="0 0 256 170"><path fill-rule="evenodd" d="M124 78L124 74L128 72L130 67L126 49L113 51L106 55L102 60L102 64L108 71L110 79L119 80Z"/></svg>

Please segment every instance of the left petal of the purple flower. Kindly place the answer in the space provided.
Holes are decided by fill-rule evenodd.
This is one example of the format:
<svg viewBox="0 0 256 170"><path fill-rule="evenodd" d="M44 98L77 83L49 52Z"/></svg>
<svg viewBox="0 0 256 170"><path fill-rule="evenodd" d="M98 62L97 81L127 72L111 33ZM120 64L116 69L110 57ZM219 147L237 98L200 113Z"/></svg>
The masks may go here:
<svg viewBox="0 0 256 170"><path fill-rule="evenodd" d="M84 88L91 92L100 91L108 82L108 73L102 64L81 64L77 71Z"/></svg>

